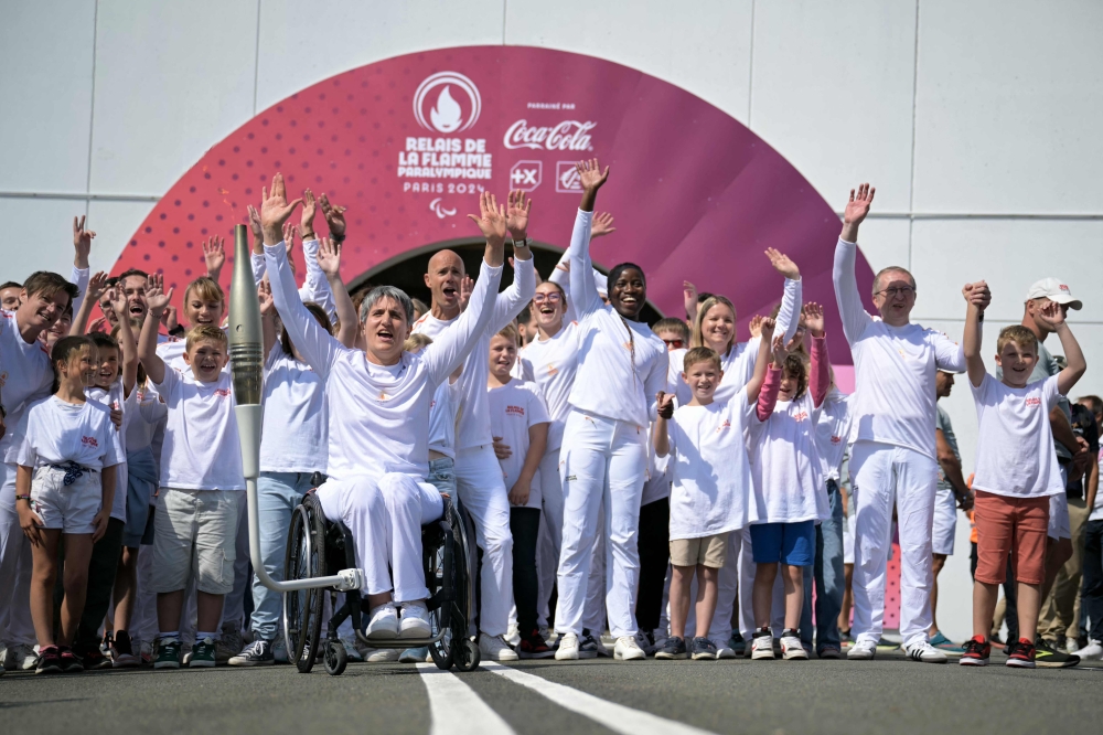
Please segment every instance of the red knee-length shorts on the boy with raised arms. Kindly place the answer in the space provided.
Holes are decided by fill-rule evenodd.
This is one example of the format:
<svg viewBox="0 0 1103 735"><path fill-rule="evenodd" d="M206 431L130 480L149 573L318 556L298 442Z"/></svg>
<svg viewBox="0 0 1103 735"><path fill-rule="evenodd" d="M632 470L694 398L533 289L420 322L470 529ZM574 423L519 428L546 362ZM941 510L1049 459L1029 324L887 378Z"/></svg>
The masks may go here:
<svg viewBox="0 0 1103 735"><path fill-rule="evenodd" d="M1007 555L1017 582L1040 585L1046 580L1046 535L1049 530L1049 497L1008 498L976 491L977 582L1003 584Z"/></svg>

